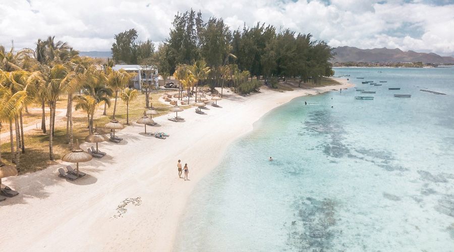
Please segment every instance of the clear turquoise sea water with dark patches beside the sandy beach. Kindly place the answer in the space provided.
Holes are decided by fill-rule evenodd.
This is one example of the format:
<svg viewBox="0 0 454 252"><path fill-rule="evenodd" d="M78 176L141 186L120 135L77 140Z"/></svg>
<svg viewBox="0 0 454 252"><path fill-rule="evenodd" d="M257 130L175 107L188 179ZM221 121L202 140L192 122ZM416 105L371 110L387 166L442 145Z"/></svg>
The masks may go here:
<svg viewBox="0 0 454 252"><path fill-rule="evenodd" d="M454 69L341 74L375 99L352 88L267 113L197 184L174 250L454 251Z"/></svg>

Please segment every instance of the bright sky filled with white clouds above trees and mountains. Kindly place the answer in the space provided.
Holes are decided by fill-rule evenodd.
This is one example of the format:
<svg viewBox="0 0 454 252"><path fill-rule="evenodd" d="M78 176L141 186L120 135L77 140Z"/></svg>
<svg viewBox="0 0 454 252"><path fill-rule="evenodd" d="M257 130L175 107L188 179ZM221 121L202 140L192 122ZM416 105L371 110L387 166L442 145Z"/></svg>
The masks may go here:
<svg viewBox="0 0 454 252"><path fill-rule="evenodd" d="M265 22L333 47L454 55L454 0L0 0L0 44L34 48L53 35L80 51L109 51L113 35L131 28L140 40L159 42L174 15L191 8L231 29Z"/></svg>

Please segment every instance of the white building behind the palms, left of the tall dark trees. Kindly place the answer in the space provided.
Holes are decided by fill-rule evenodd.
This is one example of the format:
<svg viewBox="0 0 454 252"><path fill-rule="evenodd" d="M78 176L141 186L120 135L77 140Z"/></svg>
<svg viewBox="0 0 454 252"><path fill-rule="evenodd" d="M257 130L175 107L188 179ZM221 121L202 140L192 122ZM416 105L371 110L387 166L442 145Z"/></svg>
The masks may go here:
<svg viewBox="0 0 454 252"><path fill-rule="evenodd" d="M133 72L137 75L131 79L132 85L135 89L142 89L142 84L149 83L151 84L155 81L156 88L159 88L158 84L158 71L155 66L142 66L142 65L115 65L112 67L113 70L119 71L120 69L125 70L126 72ZM154 73L153 73L154 71ZM147 76L147 73L149 76Z"/></svg>

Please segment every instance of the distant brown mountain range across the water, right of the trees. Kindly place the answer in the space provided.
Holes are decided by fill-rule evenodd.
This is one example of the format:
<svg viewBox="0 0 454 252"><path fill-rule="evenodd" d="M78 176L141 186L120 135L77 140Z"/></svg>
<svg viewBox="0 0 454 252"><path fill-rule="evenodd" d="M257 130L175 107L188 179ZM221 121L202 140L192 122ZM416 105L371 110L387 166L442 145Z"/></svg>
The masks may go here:
<svg viewBox="0 0 454 252"><path fill-rule="evenodd" d="M359 49L357 47L339 46L332 62L423 62L435 64L454 64L454 57L440 56L435 53L402 51L399 48Z"/></svg>

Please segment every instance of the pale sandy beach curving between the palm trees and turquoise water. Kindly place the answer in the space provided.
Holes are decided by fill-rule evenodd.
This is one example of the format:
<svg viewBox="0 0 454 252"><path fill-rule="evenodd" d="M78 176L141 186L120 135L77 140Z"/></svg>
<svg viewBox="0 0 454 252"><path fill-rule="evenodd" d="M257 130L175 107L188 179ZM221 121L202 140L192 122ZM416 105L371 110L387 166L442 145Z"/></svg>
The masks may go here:
<svg viewBox="0 0 454 252"><path fill-rule="evenodd" d="M143 125L133 124L119 132L122 143L99 144L107 155L81 164L87 175L74 182L57 176L63 165L4 179L20 195L0 202L0 251L171 251L188 196L226 148L265 113L293 98L353 86L336 80L343 84L229 95L219 101L222 108L208 106L207 115L193 108L179 113L185 122L169 121L167 115L153 118L160 127L147 127L147 132L168 133L166 140L140 134ZM178 159L188 163L190 181L178 178ZM125 199L138 197L140 205L127 204L127 212L114 217Z"/></svg>

